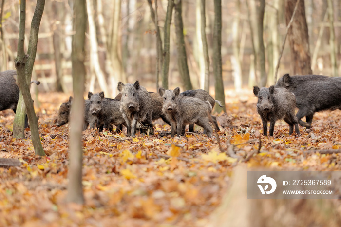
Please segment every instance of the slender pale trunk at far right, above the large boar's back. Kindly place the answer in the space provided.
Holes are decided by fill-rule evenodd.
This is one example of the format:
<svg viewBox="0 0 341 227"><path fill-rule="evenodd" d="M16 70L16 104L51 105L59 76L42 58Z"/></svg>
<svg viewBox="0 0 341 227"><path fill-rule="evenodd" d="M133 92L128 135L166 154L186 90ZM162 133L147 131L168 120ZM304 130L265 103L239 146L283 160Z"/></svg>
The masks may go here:
<svg viewBox="0 0 341 227"><path fill-rule="evenodd" d="M336 63L336 54L335 51L337 47L335 45L335 32L334 32L334 7L332 0L327 0L328 3L328 18L329 18L329 45L330 45L330 64L332 68L333 77L338 76L338 66Z"/></svg>

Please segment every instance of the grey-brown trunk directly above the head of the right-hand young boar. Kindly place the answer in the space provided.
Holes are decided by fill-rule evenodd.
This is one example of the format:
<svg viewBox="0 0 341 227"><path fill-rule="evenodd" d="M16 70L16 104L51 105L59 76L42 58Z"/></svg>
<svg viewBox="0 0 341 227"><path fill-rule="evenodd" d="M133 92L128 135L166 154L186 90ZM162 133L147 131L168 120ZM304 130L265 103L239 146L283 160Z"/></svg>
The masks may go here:
<svg viewBox="0 0 341 227"><path fill-rule="evenodd" d="M267 75L265 72L265 50L263 41L263 21L265 11L264 0L247 0L250 15L251 38L255 53L256 80L260 86L265 86Z"/></svg>

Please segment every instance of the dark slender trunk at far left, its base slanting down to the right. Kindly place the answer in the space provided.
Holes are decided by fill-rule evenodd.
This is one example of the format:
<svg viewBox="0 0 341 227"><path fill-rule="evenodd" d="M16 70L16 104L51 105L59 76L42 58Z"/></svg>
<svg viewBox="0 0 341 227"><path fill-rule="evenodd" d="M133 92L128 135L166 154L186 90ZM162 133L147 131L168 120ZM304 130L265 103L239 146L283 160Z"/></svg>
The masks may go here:
<svg viewBox="0 0 341 227"><path fill-rule="evenodd" d="M36 10L32 20L32 26L37 26L39 28L40 20L42 17L42 12L44 11L45 0L38 0L36 5ZM32 144L35 149L35 154L40 156L45 156L45 152L40 142L39 130L38 130L38 118L34 111L33 100L30 94L30 83L25 77L25 68L28 61L29 55L25 55L24 51L24 40L25 40L25 20L26 20L26 0L21 0L20 2L20 28L19 28L19 41L18 41L18 57L15 60L15 65L17 69L17 83L20 88L20 93L22 92L23 100L26 105L26 111L28 120L31 126L31 139ZM32 31L32 28L31 28ZM32 33L31 33L32 36ZM31 39L30 36L30 39ZM38 32L34 34L32 40L38 40ZM37 46L36 50L37 50ZM32 50L32 49L31 49ZM34 51L32 51L34 52ZM31 52L31 53L32 53ZM34 62L32 62L33 64ZM18 112L18 109L17 109ZM24 112L24 111L23 111Z"/></svg>

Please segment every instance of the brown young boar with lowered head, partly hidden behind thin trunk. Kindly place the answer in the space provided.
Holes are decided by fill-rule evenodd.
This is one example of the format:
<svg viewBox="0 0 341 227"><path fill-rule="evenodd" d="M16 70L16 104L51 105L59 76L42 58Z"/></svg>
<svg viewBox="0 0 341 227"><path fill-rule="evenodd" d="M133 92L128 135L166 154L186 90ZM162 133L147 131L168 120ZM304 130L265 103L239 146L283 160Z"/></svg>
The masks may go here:
<svg viewBox="0 0 341 227"><path fill-rule="evenodd" d="M62 126L69 122L70 118L70 111L71 111L71 104L72 104L72 96L70 96L69 100L65 103L62 103L58 110L58 120L57 126ZM83 123L83 131L86 130L91 122L97 122L97 118L93 116L90 112L90 101L84 100L84 123ZM94 128L90 127L90 128ZM97 128L100 129L100 124L97 123Z"/></svg>

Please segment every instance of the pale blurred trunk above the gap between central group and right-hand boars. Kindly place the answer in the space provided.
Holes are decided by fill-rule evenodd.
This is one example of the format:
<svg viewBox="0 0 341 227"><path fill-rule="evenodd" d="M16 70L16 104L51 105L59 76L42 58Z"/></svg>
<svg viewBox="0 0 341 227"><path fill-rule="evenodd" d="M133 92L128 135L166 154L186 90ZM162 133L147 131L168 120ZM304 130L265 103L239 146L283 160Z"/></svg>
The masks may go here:
<svg viewBox="0 0 341 227"><path fill-rule="evenodd" d="M239 60L239 19L240 17L240 1L236 0L236 14L234 15L233 23L232 23L232 48L233 55L231 56L231 64L233 68L233 77L234 77L234 88L236 91L240 91L242 89L242 67L240 65Z"/></svg>

